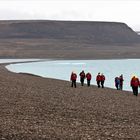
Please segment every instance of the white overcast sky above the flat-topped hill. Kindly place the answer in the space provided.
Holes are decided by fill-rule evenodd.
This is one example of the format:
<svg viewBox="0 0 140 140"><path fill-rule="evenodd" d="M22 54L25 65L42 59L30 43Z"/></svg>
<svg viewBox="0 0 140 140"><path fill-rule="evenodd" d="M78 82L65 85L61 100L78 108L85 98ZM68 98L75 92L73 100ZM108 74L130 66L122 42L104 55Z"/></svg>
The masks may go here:
<svg viewBox="0 0 140 140"><path fill-rule="evenodd" d="M0 0L0 20L124 22L140 30L140 0Z"/></svg>

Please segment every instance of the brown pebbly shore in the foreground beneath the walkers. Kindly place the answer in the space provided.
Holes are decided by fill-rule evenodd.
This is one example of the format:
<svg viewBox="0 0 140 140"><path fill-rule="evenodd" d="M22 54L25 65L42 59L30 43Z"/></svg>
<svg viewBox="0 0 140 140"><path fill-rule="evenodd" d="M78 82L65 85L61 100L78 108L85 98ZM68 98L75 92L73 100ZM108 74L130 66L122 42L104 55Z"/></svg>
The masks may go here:
<svg viewBox="0 0 140 140"><path fill-rule="evenodd" d="M0 65L1 140L139 140L140 95L15 74Z"/></svg>

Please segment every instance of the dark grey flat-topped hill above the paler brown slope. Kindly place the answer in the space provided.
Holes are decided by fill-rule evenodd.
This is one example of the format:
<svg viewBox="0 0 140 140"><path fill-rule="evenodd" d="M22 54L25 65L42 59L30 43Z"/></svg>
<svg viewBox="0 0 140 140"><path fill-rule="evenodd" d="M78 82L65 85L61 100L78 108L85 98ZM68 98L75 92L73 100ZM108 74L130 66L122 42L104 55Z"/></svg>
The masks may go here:
<svg viewBox="0 0 140 140"><path fill-rule="evenodd" d="M86 21L0 21L0 39L64 39L93 44L139 43L125 23Z"/></svg>

